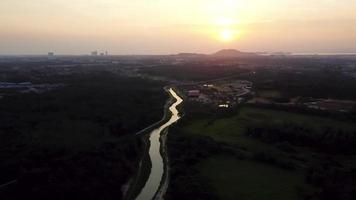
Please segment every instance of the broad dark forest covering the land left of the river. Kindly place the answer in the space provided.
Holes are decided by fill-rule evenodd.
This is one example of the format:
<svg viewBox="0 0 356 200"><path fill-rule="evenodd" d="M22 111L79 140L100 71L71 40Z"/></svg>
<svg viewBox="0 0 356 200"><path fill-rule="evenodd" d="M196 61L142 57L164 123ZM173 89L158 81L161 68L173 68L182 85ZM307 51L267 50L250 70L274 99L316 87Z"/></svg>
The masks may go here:
<svg viewBox="0 0 356 200"><path fill-rule="evenodd" d="M163 83L107 72L0 99L0 199L120 199L143 151L133 134L162 117Z"/></svg>

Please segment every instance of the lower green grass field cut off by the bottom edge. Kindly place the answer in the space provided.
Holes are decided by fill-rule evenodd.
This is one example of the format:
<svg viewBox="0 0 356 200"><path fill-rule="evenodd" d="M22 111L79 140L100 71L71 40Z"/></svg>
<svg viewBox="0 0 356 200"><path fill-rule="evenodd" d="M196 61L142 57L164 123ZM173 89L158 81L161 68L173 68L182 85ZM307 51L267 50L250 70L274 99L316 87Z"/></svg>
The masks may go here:
<svg viewBox="0 0 356 200"><path fill-rule="evenodd" d="M211 157L198 167L224 200L294 200L303 185L302 174L228 156Z"/></svg>

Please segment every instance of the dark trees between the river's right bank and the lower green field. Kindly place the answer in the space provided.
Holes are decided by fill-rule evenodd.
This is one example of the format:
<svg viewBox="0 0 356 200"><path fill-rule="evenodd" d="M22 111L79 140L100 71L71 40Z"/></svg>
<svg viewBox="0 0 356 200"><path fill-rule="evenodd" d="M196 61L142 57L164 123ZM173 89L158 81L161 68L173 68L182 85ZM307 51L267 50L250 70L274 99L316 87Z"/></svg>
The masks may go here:
<svg viewBox="0 0 356 200"><path fill-rule="evenodd" d="M166 199L218 199L198 169L192 167L201 159L221 151L221 146L209 138L184 138L177 128L170 129L168 150L170 158L170 182Z"/></svg>

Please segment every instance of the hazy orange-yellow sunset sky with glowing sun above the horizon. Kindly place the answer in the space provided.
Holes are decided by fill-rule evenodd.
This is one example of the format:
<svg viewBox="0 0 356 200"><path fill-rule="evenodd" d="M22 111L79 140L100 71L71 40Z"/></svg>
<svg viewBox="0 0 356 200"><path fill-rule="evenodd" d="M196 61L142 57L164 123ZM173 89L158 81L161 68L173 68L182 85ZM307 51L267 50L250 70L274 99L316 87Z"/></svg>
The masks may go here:
<svg viewBox="0 0 356 200"><path fill-rule="evenodd" d="M0 54L356 52L355 0L1 0Z"/></svg>

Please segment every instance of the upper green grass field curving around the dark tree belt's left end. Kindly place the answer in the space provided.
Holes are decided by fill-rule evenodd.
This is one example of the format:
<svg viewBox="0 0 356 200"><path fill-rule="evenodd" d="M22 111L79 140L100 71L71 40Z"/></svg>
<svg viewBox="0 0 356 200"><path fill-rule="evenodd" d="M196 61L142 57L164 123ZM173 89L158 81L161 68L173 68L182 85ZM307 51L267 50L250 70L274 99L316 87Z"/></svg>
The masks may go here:
<svg viewBox="0 0 356 200"><path fill-rule="evenodd" d="M259 121L268 123L293 122L316 129L330 124L332 124L333 127L344 130L356 129L356 124L351 122L272 109L244 107L233 117L196 119L188 126L184 127L184 133L188 135L209 136L219 142L239 144L244 147L261 149L266 148L267 144L250 139L244 135L245 127L248 123Z"/></svg>

